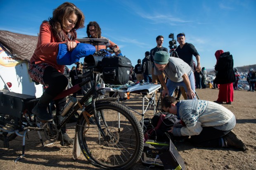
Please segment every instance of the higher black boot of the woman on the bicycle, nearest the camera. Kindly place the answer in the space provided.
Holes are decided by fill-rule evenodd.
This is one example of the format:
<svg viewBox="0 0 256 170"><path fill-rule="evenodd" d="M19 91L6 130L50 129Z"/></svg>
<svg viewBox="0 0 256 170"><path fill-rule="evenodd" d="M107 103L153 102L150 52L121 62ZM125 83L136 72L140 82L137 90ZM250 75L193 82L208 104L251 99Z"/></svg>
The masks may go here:
<svg viewBox="0 0 256 170"><path fill-rule="evenodd" d="M47 107L40 106L40 103L32 109L32 113L36 115L36 120L42 123L52 121L52 116L47 112Z"/></svg>

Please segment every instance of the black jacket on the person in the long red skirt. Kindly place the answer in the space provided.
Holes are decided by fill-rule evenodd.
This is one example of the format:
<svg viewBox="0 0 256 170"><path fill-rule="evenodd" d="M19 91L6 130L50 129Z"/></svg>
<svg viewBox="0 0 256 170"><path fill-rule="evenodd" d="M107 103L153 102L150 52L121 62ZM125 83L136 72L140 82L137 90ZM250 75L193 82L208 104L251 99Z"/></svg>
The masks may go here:
<svg viewBox="0 0 256 170"><path fill-rule="evenodd" d="M220 54L220 59L215 66L217 74L213 83L227 84L235 82L235 71L233 69L233 65L233 57L230 55L230 52Z"/></svg>

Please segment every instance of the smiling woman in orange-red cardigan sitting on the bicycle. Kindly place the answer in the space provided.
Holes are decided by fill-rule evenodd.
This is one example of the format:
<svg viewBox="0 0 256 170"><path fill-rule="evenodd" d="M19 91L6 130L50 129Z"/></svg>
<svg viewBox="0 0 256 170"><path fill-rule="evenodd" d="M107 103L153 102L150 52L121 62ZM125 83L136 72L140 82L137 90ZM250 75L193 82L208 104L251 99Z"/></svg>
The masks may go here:
<svg viewBox="0 0 256 170"><path fill-rule="evenodd" d="M69 51L73 50L76 41L76 30L84 27L85 17L83 12L73 3L64 2L57 7L49 20L43 21L36 50L30 59L28 74L33 80L48 85L40 97L40 101L33 108L32 113L42 123L52 121L52 116L47 112L48 104L68 85L68 79L64 76L64 65L57 64L58 46L60 43L67 45ZM55 100L56 120L60 122L64 118L59 115L66 104L66 98ZM66 127L62 128L63 140L67 144L73 143L66 134Z"/></svg>

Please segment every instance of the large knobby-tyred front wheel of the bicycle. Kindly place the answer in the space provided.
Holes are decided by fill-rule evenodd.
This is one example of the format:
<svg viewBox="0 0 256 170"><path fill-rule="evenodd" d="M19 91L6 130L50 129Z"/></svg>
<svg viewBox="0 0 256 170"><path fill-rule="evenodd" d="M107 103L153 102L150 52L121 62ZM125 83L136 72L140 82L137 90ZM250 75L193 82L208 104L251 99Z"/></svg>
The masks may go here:
<svg viewBox="0 0 256 170"><path fill-rule="evenodd" d="M86 108L86 111L92 114L92 107ZM90 118L88 128L85 118L81 116L78 120L78 140L84 156L90 163L102 168L130 168L139 161L144 146L139 121L125 106L116 102L97 103L96 111L106 138L103 139L94 119Z"/></svg>

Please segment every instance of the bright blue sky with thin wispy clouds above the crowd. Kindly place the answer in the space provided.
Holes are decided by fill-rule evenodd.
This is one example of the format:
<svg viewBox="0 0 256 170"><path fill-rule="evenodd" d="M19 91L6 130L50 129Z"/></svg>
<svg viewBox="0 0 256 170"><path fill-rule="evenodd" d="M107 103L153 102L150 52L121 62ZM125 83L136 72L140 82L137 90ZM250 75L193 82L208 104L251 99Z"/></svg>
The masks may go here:
<svg viewBox="0 0 256 170"><path fill-rule="evenodd" d="M63 0L1 0L0 30L37 35L43 20ZM200 54L201 66L214 68L216 50L230 51L234 67L256 64L256 0L71 0L97 21L102 36L119 45L133 66L156 47L156 36L186 34ZM86 36L86 27L78 38ZM195 60L195 57L194 57ZM81 60L82 61L82 60Z"/></svg>

